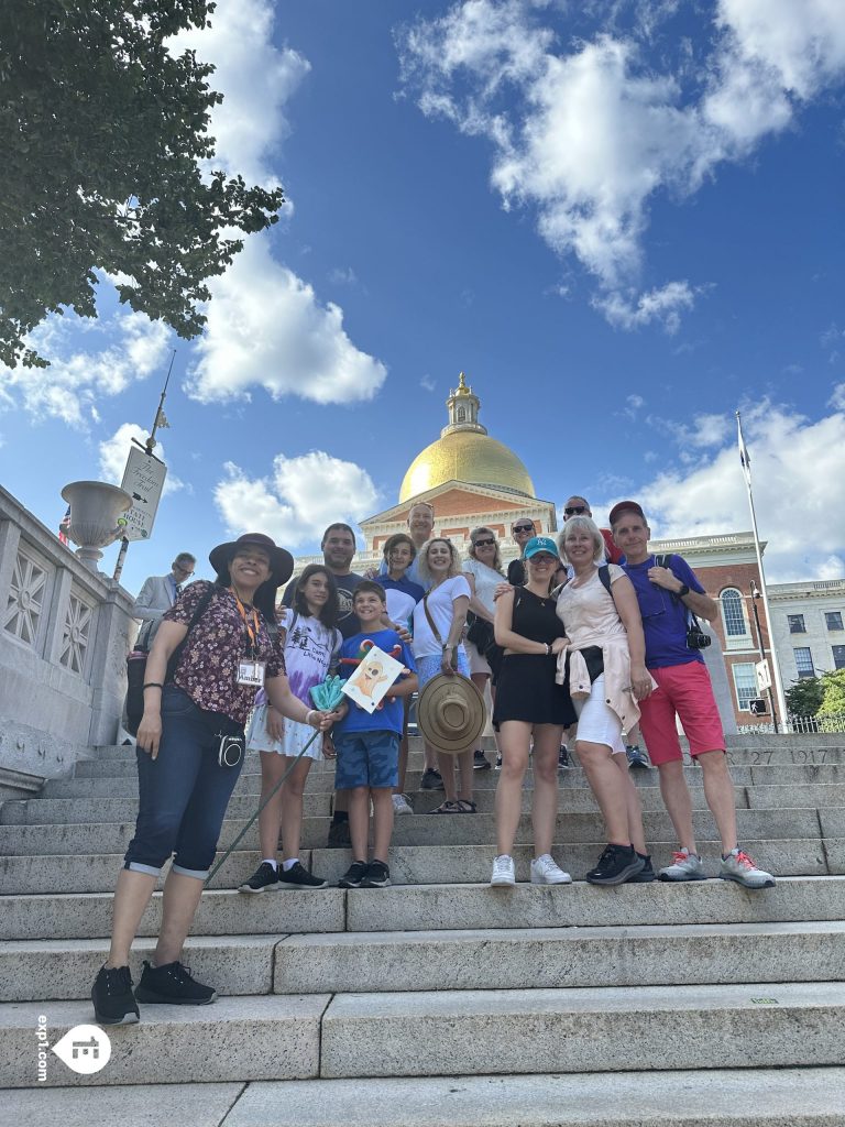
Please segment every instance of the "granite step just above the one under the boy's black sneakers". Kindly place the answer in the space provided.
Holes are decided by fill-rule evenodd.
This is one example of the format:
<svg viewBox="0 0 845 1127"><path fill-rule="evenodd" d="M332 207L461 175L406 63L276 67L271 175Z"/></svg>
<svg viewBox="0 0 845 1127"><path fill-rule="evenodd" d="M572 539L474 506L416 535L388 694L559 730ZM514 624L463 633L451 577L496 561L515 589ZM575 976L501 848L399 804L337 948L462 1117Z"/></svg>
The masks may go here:
<svg viewBox="0 0 845 1127"><path fill-rule="evenodd" d="M742 846L762 868L780 877L845 873L845 838L824 842L818 837L749 838L744 840ZM651 855L656 869L670 863L675 848L674 842L652 840ZM702 838L699 848L706 872L715 877L719 872L719 843ZM515 846L518 880L528 879L533 852L531 845ZM552 853L576 880L582 880L587 870L596 863L599 846L593 842L570 842L553 845ZM394 844L389 854L391 880L395 885L487 884L495 855L496 846L492 844ZM336 885L349 867L352 854L348 850L314 849L303 851L301 859L312 872ZM260 857L254 850L235 850L214 877L212 887L237 888L252 876L259 861ZM123 853L5 857L0 858L0 895L112 891L122 866Z"/></svg>

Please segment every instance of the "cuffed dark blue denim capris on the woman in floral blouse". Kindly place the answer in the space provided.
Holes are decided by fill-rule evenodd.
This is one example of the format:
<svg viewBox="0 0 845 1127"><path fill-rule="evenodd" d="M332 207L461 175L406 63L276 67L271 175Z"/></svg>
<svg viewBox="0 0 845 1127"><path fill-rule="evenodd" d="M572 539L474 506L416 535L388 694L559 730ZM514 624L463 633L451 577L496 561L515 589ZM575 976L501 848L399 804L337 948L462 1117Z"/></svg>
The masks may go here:
<svg viewBox="0 0 845 1127"><path fill-rule="evenodd" d="M158 877L175 854L172 871L205 880L214 861L237 767L217 763L221 734L238 726L219 712L198 708L181 689L161 693L161 743L152 758L137 756L137 822L124 868Z"/></svg>

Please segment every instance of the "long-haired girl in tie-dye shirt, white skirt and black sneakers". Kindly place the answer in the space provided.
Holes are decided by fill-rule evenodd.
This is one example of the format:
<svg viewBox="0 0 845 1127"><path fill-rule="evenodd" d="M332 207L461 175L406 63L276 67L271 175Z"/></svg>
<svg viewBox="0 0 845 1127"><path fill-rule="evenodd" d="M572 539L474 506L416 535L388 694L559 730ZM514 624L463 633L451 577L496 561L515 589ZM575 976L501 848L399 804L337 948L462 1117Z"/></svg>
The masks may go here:
<svg viewBox="0 0 845 1127"><path fill-rule="evenodd" d="M338 597L335 578L321 564L309 564L299 578L293 607L284 607L279 625L284 635L287 681L294 696L312 708L310 691L337 668L343 638L337 629ZM323 740L314 739L306 724L284 720L261 689L247 730L247 751L260 752L261 802L273 793L258 815L261 863L240 886L242 893L265 888L327 888L328 880L309 872L300 862L302 811L305 781L315 760L323 758ZM308 745L302 758L294 760ZM291 774L276 790L282 777ZM283 858L276 853L282 831Z"/></svg>

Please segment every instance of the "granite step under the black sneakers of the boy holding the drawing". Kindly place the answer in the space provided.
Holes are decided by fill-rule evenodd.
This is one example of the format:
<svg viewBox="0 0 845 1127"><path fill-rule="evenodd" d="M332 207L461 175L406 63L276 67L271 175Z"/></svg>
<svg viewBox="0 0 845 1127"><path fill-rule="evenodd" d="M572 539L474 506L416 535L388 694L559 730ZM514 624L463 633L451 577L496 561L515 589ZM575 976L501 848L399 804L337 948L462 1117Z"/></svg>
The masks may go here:
<svg viewBox="0 0 845 1127"><path fill-rule="evenodd" d="M112 926L112 891L12 895L3 899L0 939L101 939ZM193 935L417 932L450 929L631 928L664 924L799 923L845 920L845 877L783 877L751 893L731 881L655 881L601 894L519 884L504 895L482 885L392 885L383 889L269 890L248 896L210 890ZM158 934L161 894L153 895L139 935Z"/></svg>

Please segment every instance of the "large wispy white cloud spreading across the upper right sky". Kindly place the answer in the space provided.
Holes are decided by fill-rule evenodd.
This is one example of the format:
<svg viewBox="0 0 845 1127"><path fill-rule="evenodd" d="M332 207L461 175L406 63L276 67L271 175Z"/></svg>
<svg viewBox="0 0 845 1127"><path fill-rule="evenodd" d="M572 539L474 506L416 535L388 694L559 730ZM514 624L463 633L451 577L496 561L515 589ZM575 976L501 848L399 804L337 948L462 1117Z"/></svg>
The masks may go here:
<svg viewBox="0 0 845 1127"><path fill-rule="evenodd" d="M647 68L634 36L648 38L671 5L563 51L542 25L557 8L464 0L418 20L399 41L404 85L424 114L491 142L504 206L535 210L549 246L597 279L594 305L613 325L673 332L701 290L673 281L638 292L650 202L695 192L719 162L790 124L794 98L840 78L840 0L721 0L705 69L682 51L666 73ZM612 26L614 11L604 14Z"/></svg>

